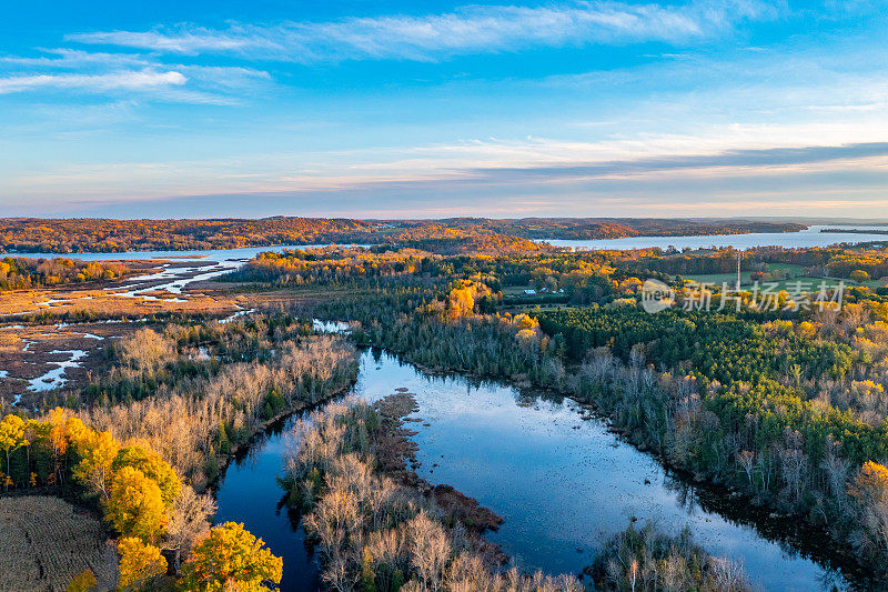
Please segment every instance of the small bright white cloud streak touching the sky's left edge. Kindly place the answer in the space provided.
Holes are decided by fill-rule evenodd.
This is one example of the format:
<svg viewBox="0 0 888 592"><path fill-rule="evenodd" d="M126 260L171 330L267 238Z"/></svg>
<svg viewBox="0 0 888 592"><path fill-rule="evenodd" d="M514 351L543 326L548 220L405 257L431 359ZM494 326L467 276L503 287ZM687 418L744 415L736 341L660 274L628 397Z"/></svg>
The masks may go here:
<svg viewBox="0 0 888 592"><path fill-rule="evenodd" d="M77 89L87 92L110 90L149 90L181 87L188 81L175 71L154 70L108 72L101 74L34 74L0 78L0 94L34 89Z"/></svg>

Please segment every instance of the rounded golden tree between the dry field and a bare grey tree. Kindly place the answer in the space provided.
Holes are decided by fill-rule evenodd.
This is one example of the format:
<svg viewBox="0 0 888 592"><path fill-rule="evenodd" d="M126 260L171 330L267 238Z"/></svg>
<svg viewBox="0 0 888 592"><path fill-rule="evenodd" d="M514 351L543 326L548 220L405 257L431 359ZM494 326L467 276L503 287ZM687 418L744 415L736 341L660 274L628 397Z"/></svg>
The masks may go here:
<svg viewBox="0 0 888 592"><path fill-rule="evenodd" d="M144 542L153 541L167 521L160 488L132 466L123 466L114 474L105 508L108 520L121 534Z"/></svg>

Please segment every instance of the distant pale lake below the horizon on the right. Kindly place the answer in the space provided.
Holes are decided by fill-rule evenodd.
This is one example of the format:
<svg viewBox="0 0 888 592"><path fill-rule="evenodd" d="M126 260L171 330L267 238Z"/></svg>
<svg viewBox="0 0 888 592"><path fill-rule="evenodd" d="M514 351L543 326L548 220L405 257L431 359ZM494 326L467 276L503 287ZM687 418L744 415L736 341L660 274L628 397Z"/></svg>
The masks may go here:
<svg viewBox="0 0 888 592"><path fill-rule="evenodd" d="M574 250L616 250L628 251L632 249L649 249L659 247L668 249L708 249L710 247L724 248L734 247L735 249L753 249L756 247L829 247L840 242L860 243L870 241L888 242L888 234L865 234L856 232L820 232L824 229L841 230L884 230L888 227L866 227L866 225L814 225L799 232L753 232L749 234L709 234L703 237L625 237L623 239L601 239L601 240L556 240L536 239L537 242L547 242L555 247L572 247Z"/></svg>

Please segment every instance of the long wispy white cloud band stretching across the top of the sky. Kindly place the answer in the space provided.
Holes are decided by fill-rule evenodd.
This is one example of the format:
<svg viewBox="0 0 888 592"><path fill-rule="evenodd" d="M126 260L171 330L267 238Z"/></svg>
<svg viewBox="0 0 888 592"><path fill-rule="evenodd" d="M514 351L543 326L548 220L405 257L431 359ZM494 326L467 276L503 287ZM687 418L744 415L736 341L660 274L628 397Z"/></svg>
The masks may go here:
<svg viewBox="0 0 888 592"><path fill-rule="evenodd" d="M323 62L344 59L435 60L544 46L663 41L683 44L729 31L775 9L758 0L709 0L684 6L589 1L551 7L472 6L444 14L349 18L273 26L191 26L151 31L70 34L81 43L171 53L232 53L253 59Z"/></svg>

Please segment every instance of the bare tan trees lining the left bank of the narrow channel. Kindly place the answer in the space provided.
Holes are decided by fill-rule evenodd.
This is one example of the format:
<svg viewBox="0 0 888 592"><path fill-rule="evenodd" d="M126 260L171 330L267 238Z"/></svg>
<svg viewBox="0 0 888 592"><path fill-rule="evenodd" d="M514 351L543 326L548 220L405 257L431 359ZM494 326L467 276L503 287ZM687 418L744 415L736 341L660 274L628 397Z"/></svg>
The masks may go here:
<svg viewBox="0 0 888 592"><path fill-rule="evenodd" d="M273 359L230 361L216 364L218 372L206 378L183 377L186 387L176 381L167 384L159 380L154 360L158 349L169 351L170 345L141 348L142 342L157 344L163 339L169 338L134 337L131 341L140 343L140 350L124 355L144 358L134 368L118 369L99 387L100 392L111 393L115 383L160 382L152 397L94 408L84 415L91 425L111 430L119 439L148 440L198 488L215 479L229 454L250 435L275 418L343 389L356 372L354 349L344 339L306 337L278 343Z"/></svg>

